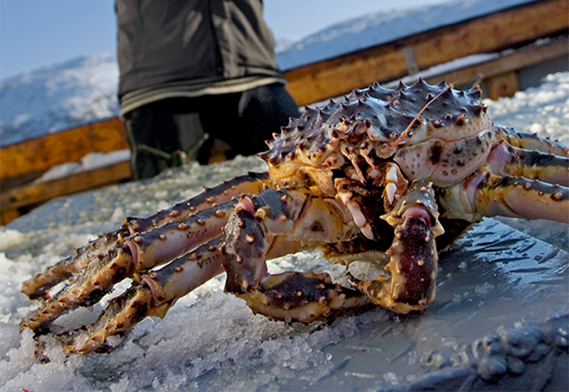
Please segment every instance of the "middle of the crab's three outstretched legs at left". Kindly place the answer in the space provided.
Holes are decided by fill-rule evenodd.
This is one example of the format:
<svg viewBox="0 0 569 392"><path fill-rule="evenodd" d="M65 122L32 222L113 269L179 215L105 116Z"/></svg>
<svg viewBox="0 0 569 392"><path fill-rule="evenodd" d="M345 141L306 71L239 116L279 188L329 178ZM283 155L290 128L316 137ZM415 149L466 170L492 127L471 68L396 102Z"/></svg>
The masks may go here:
<svg viewBox="0 0 569 392"><path fill-rule="evenodd" d="M31 312L20 327L29 327L36 333L47 332L51 322L63 312L98 302L115 283L133 273L171 261L216 238L237 202L237 199L231 200L180 222L170 222L148 232L119 239L106 254L92 260L84 273L75 275L68 286Z"/></svg>

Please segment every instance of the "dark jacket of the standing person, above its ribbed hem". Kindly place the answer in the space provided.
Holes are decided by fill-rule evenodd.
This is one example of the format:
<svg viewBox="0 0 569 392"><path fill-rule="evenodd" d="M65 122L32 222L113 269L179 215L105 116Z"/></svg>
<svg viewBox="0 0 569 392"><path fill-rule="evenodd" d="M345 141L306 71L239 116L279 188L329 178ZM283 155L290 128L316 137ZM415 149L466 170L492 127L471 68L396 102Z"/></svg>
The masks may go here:
<svg viewBox="0 0 569 392"><path fill-rule="evenodd" d="M260 0L116 0L119 97L179 80L282 77Z"/></svg>

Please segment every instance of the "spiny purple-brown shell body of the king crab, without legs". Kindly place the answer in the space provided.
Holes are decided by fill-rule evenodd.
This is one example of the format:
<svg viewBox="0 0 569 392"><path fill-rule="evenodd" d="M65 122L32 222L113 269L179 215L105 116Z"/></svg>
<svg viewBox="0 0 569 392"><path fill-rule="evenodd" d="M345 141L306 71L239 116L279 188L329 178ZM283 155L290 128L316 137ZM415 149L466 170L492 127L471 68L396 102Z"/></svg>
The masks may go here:
<svg viewBox="0 0 569 392"><path fill-rule="evenodd" d="M453 185L482 166L489 153L492 124L481 95L479 87L463 92L444 82L431 86L419 80L395 89L374 84L354 90L344 102L305 107L260 157L275 186L309 187L321 195L334 196L333 173L346 160L362 183L376 180L373 170L391 160L411 182ZM362 159L369 173L358 170Z"/></svg>

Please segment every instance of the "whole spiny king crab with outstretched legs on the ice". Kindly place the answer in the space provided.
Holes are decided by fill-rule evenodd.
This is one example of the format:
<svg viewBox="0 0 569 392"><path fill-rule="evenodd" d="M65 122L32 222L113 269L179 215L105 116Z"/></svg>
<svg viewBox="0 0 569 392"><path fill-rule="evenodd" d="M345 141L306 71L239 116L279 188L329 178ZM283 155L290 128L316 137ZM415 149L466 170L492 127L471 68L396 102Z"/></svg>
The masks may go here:
<svg viewBox="0 0 569 392"><path fill-rule="evenodd" d="M495 126L480 98L478 87L419 80L306 107L267 143L260 155L267 173L128 218L23 283L41 305L21 329L50 333L57 317L132 278L92 325L56 334L65 352L110 351L112 337L144 317L164 317L223 272L226 292L277 320L308 323L369 304L425 310L435 299L437 249L473 222L496 215L569 222L569 149ZM315 248L346 265L384 263L386 272L372 280L348 273L349 288L326 273L267 272L268 259Z"/></svg>

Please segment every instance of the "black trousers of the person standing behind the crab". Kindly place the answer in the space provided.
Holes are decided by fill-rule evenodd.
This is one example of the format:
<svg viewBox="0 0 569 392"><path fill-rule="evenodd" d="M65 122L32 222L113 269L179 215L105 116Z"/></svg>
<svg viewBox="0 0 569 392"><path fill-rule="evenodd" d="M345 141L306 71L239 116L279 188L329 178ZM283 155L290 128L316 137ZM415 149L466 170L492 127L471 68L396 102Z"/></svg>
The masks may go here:
<svg viewBox="0 0 569 392"><path fill-rule="evenodd" d="M153 153L152 148L175 154L191 151L208 134L231 147L230 156L252 155L267 149L265 140L279 133L289 117L299 116L297 104L283 85L267 85L245 92L169 98L146 104L124 116L132 151L134 179L150 178L175 162ZM150 147L150 148L147 148ZM189 156L207 163L211 143Z"/></svg>

